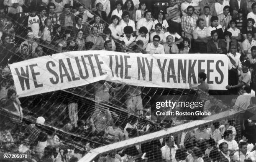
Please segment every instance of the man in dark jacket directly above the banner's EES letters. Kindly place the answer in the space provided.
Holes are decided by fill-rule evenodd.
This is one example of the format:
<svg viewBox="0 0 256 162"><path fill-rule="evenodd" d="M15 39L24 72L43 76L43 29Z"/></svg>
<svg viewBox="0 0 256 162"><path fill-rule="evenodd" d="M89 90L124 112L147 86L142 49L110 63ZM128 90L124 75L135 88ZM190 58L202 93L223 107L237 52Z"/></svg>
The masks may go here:
<svg viewBox="0 0 256 162"><path fill-rule="evenodd" d="M213 30L211 32L212 39L207 43L207 53L227 53L227 45L223 40L218 38L218 31Z"/></svg>

